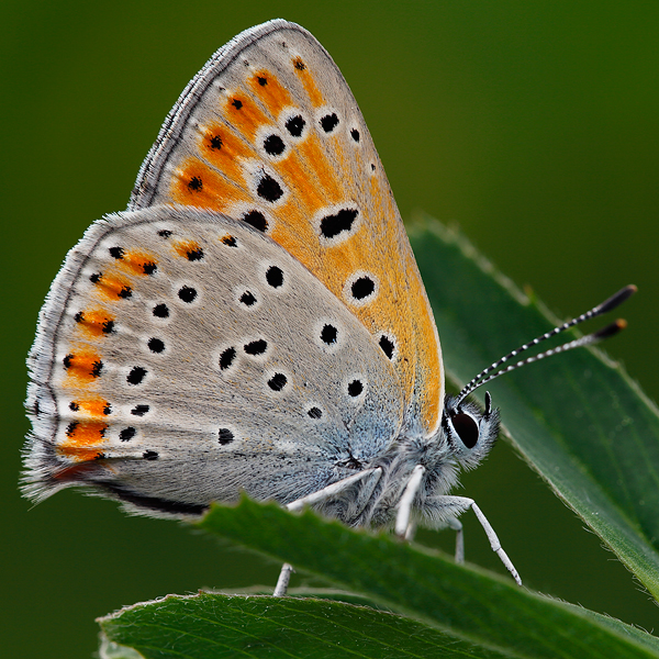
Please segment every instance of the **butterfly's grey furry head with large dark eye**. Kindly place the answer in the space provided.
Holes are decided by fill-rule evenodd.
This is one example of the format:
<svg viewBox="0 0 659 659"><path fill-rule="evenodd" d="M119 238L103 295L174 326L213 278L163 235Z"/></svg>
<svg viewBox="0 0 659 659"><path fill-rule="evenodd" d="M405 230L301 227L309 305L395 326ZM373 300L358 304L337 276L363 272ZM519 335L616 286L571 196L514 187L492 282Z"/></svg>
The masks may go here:
<svg viewBox="0 0 659 659"><path fill-rule="evenodd" d="M485 409L447 395L442 426L454 458L466 469L473 469L490 453L499 434L499 410L492 407L492 396L485 393Z"/></svg>

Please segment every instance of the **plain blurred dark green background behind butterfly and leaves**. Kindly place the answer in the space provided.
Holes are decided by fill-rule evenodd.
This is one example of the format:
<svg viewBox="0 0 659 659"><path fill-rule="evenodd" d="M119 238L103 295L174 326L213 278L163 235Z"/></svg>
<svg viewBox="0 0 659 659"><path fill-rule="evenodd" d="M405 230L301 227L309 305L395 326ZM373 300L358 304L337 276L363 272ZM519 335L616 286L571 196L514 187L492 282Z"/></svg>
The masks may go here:
<svg viewBox="0 0 659 659"><path fill-rule="evenodd" d="M276 16L308 27L342 68L403 217L422 209L457 223L561 316L637 283L622 312L629 330L606 350L659 394L659 3L4 0L8 657L89 657L94 616L121 605L275 582L278 566L113 503L63 492L30 510L16 482L24 357L66 252L91 221L125 206L160 123L208 57ZM657 626L649 596L505 443L463 483L528 587ZM468 558L502 571L472 516L463 521ZM450 534L421 539L453 544Z"/></svg>

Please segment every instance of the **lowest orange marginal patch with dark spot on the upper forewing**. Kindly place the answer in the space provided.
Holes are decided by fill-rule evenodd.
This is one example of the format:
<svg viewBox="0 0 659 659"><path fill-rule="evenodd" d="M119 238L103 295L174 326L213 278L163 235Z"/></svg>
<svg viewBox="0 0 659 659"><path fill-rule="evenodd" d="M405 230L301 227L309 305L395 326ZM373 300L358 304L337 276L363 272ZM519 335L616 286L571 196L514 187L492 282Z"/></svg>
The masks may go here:
<svg viewBox="0 0 659 659"><path fill-rule="evenodd" d="M188 158L171 179L171 198L185 205L226 210L235 201L250 198L197 158Z"/></svg>

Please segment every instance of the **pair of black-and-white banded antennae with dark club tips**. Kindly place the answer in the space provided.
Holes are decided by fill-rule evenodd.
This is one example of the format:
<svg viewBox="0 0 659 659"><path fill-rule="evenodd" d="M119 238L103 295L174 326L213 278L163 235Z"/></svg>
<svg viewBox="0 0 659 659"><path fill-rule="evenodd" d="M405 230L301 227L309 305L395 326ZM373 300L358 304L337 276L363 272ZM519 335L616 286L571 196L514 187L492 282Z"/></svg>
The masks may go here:
<svg viewBox="0 0 659 659"><path fill-rule="evenodd" d="M585 336L582 336L581 338L576 338L574 340L565 343L560 346L557 346L556 348L545 350L544 353L539 353L538 355L527 357L526 359L521 359L520 361L516 361L515 364L511 364L511 365L506 366L505 368L501 368L506 361L510 361L514 357L517 357L517 355L520 355L521 353L524 353L525 350L528 350L528 348L532 348L533 346L537 346L539 343L546 340L547 338L551 338L552 336L556 336L557 334L560 334L561 332L565 332L566 330L569 330L570 327L573 327L574 325L578 325L579 323L583 323L584 321L590 321L591 319L594 319L595 316L602 315L603 313L607 313L607 312L612 311L613 309L615 309L616 306L619 306L625 300L630 298L637 290L638 289L634 284L626 286L625 288L621 289L617 293L615 293L615 295L612 295L611 298L608 298L608 300L605 300L604 302L602 302L602 304L597 304L597 306L594 306L590 311L582 313L580 316L572 319L571 321L568 321L567 323L563 323L562 325L558 325L557 327L554 327L554 330L546 332L545 334L543 334L541 336L538 336L537 338L534 338L532 342L524 344L516 350L512 350L511 353L509 353L507 355L505 355L504 357L502 357L501 359L499 359L498 361L495 361L494 364L490 365L488 368L482 370L480 373L478 373L478 376L476 376L476 378L473 378L473 380L471 380L471 382L469 382L462 389L462 391L460 391L460 393L458 394L457 404L460 404L474 389L478 389L485 382L490 382L494 378L499 378L499 376L502 376L503 373L509 373L510 371L515 370L516 368L520 368L521 366L525 366L527 364L533 364L534 361L539 361L540 359L545 359L546 357L551 357L552 355L558 355L559 353L565 353L567 350L571 350L572 348L581 348L583 346L590 346L594 343L597 343L600 340L603 340L605 338L608 338L610 336L617 334L618 332L621 332L622 330L624 330L627 326L627 322L622 319L618 319L614 323L611 323L610 325L602 327L602 330L597 330L597 332L593 332L592 334L587 334Z"/></svg>

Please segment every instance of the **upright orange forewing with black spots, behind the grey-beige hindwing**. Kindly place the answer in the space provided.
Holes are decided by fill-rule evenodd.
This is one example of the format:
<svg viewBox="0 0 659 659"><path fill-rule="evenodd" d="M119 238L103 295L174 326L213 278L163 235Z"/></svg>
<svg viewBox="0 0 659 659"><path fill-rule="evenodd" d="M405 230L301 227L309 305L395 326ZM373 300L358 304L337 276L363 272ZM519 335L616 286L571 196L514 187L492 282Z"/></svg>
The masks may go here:
<svg viewBox="0 0 659 659"><path fill-rule="evenodd" d="M130 209L214 209L281 245L342 300L392 364L404 426L433 435L437 331L382 164L340 71L281 20L221 48L147 156Z"/></svg>

